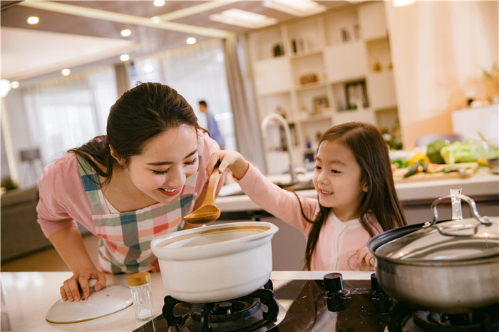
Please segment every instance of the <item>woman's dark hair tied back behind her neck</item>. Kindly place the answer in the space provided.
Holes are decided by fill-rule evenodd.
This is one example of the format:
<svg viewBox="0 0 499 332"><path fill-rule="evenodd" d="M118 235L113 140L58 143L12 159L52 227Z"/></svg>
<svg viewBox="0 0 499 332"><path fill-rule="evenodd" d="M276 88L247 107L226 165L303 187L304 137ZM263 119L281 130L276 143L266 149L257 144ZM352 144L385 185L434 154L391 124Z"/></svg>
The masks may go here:
<svg viewBox="0 0 499 332"><path fill-rule="evenodd" d="M86 160L109 182L117 164L110 154L110 146L128 165L130 157L140 155L145 142L183 124L199 129L194 110L182 95L168 85L140 83L111 106L107 135L93 138L70 151Z"/></svg>

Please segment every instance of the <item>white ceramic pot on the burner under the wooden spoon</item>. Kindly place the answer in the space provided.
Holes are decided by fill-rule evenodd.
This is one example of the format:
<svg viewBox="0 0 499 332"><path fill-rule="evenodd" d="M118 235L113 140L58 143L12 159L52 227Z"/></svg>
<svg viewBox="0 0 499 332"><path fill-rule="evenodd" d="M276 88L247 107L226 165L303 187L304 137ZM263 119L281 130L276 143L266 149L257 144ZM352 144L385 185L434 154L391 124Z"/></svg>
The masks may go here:
<svg viewBox="0 0 499 332"><path fill-rule="evenodd" d="M269 222L235 222L156 237L151 249L168 295L205 303L245 296L270 278L278 228Z"/></svg>

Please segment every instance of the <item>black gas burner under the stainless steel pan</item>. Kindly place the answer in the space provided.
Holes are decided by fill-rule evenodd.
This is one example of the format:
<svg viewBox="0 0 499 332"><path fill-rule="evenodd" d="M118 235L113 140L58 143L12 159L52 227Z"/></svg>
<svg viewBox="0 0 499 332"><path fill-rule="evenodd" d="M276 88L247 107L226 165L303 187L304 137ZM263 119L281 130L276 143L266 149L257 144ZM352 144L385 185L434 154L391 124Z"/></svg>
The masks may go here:
<svg viewBox="0 0 499 332"><path fill-rule="evenodd" d="M475 332L499 331L499 306L490 306L468 313L436 313L411 311L398 304L391 312L389 332Z"/></svg>

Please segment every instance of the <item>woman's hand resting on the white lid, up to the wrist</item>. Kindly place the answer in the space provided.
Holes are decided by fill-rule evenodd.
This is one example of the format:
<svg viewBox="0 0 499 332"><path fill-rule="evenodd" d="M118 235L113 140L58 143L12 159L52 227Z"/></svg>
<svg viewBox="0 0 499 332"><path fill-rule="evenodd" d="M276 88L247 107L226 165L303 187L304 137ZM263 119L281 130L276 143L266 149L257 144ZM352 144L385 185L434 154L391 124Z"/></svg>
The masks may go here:
<svg viewBox="0 0 499 332"><path fill-rule="evenodd" d="M101 271L98 271L97 269L79 271L73 274L70 279L64 281L63 286L61 286L60 291L63 301L69 300L70 302L78 302L80 300L85 301L88 299L88 296L90 296L90 286L88 285L89 279L97 280L95 286L93 286L93 289L96 291L100 291L106 286L106 274L103 274ZM80 296L80 289L78 289L78 286L81 288L82 296Z"/></svg>

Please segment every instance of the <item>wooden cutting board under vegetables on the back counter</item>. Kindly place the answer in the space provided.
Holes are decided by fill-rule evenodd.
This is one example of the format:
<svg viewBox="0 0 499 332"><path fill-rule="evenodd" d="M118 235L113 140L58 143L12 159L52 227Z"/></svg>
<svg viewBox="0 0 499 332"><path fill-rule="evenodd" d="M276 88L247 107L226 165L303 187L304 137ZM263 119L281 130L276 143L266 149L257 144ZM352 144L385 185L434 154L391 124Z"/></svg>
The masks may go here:
<svg viewBox="0 0 499 332"><path fill-rule="evenodd" d="M467 177L472 177L478 170L478 162L460 162L454 165L441 165L443 167L458 167L464 168L464 174L459 172L436 172L436 173L417 173L411 175L410 177L403 177L407 172L407 168L400 168L393 172L393 181L395 183L406 183L406 182L420 182L420 181L434 181L434 180L448 180L448 179L465 179Z"/></svg>

